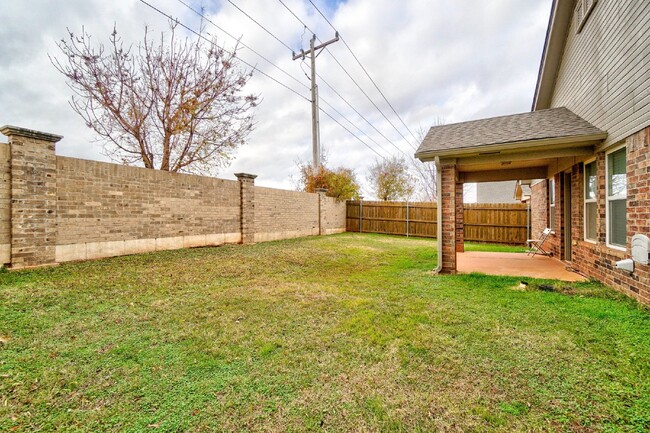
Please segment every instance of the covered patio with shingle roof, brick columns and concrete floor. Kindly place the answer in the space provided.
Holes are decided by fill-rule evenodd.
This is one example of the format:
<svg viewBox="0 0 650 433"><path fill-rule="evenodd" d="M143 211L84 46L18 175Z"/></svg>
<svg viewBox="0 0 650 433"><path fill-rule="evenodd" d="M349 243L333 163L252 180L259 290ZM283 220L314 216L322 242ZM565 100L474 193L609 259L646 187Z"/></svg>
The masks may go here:
<svg viewBox="0 0 650 433"><path fill-rule="evenodd" d="M484 272L575 281L566 271L571 260L571 215L555 222L555 258L499 257L499 253L464 253L463 184L548 179L593 157L607 133L564 107L432 127L415 156L434 161L438 173L439 263L443 273ZM570 210L571 174L562 209ZM576 200L576 203L578 201ZM559 208L559 207L558 207ZM533 232L533 237L538 233ZM559 259L559 260L557 260Z"/></svg>

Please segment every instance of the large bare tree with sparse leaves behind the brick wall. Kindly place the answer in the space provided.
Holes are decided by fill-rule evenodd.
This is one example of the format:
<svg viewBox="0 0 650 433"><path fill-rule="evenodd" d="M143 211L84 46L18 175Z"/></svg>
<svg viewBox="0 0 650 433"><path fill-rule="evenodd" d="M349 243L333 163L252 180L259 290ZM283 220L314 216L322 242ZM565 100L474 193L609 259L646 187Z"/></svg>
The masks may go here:
<svg viewBox="0 0 650 433"><path fill-rule="evenodd" d="M52 58L74 92L72 108L104 141L113 160L147 168L215 174L229 164L253 127L257 97L242 95L250 72L236 50L216 41L178 38L176 24L157 43L125 48L117 30L108 46L95 46L82 29L68 30Z"/></svg>

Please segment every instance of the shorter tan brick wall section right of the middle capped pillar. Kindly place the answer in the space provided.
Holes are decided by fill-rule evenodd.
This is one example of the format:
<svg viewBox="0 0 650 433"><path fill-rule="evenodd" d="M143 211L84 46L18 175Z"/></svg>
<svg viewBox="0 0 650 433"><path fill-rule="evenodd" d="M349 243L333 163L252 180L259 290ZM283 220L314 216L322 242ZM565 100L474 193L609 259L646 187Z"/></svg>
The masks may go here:
<svg viewBox="0 0 650 433"><path fill-rule="evenodd" d="M318 203L318 194L255 187L255 242L318 235Z"/></svg>

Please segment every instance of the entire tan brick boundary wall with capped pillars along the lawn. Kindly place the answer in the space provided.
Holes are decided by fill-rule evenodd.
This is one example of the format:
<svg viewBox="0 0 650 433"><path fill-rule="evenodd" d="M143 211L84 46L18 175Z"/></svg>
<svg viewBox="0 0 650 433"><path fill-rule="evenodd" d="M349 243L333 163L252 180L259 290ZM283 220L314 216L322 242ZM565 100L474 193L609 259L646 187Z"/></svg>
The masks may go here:
<svg viewBox="0 0 650 433"><path fill-rule="evenodd" d="M62 137L0 128L0 265L12 268L148 251L345 231L345 202L237 180L55 155Z"/></svg>

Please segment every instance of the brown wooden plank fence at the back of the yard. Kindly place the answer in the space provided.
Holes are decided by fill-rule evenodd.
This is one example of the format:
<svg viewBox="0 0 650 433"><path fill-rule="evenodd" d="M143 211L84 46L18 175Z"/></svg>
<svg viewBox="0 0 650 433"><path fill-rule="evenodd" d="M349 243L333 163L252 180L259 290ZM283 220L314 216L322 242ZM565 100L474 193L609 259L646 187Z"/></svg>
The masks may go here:
<svg viewBox="0 0 650 433"><path fill-rule="evenodd" d="M525 204L465 204L464 235L470 242L524 244L528 231ZM346 230L435 238L436 203L348 201Z"/></svg>

